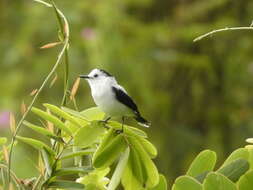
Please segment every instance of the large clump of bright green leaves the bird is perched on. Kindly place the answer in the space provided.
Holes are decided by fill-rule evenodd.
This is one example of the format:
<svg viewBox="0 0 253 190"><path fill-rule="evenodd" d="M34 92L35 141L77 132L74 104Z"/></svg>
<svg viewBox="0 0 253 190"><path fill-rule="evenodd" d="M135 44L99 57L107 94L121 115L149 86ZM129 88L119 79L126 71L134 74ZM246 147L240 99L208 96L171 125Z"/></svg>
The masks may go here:
<svg viewBox="0 0 253 190"><path fill-rule="evenodd" d="M84 110L77 117L74 110L63 108L68 110L64 111L51 104L44 106L47 112L32 108L32 112L44 120L42 126L27 121L24 125L47 137L47 142L16 137L39 151L41 163L37 167L41 173L29 184L32 188L114 190L121 181L126 190L166 190L166 179L159 176L152 161L156 148L146 139L144 131L127 125L122 128L116 121L104 122L104 113L97 107ZM46 125L48 122L51 127ZM5 144L6 139L1 138L1 143ZM65 159L75 162L65 167ZM84 159L90 161L85 163ZM109 179L106 176L115 162L117 166ZM62 179L69 175L74 180ZM26 187L20 180L12 182L18 189Z"/></svg>

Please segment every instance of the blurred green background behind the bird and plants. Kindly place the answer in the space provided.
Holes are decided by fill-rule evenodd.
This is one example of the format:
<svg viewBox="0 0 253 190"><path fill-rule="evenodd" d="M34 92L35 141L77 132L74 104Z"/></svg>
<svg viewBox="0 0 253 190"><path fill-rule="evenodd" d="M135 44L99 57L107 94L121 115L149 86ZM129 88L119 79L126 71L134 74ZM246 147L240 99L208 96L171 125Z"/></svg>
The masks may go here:
<svg viewBox="0 0 253 190"><path fill-rule="evenodd" d="M193 43L213 29L249 26L252 0L55 2L70 23L71 85L94 67L115 75L152 121L145 130L159 151L157 167L170 183L201 150L216 151L221 163L253 135L252 31L223 32ZM8 113L20 118L22 101L29 104L29 93L42 83L60 49L39 49L57 41L57 22L52 9L32 0L1 0L0 23L4 136L10 135ZM46 87L36 106L60 104L63 68L57 73L58 80ZM84 81L76 98L81 110L94 106ZM21 177L36 172L36 151L28 150L14 150L14 168Z"/></svg>

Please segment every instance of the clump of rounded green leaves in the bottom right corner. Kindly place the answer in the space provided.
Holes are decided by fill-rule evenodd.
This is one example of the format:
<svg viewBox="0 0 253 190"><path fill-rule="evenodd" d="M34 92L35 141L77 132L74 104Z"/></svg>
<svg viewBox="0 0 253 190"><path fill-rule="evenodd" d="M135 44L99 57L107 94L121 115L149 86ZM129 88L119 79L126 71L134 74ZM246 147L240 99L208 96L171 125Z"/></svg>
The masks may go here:
<svg viewBox="0 0 253 190"><path fill-rule="evenodd" d="M252 151L252 145L239 148L230 154L220 168L214 169L215 152L204 150L193 160L186 175L175 180L172 190L252 189Z"/></svg>

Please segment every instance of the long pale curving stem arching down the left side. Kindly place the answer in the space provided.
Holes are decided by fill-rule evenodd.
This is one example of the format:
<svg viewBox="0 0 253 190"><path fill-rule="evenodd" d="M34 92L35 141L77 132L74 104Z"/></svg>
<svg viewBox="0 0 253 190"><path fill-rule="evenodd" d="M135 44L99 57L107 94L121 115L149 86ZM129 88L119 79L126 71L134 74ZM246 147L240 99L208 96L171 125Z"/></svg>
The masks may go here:
<svg viewBox="0 0 253 190"><path fill-rule="evenodd" d="M39 3L42 3L48 7L53 7L51 4L49 3L46 3L44 1L41 1L41 0L34 0L36 2L39 2ZM54 72L56 71L56 69L58 68L58 66L60 65L61 63L61 59L66 51L66 49L68 48L68 45L69 45L69 25L68 25L68 22L67 22L67 19L65 18L64 14L59 10L57 9L58 13L60 14L60 16L63 18L64 20L64 23L65 23L65 39L64 39L64 45L63 45L63 48L62 50L60 51L58 57L57 57L57 60L56 60L56 63L55 65L53 66L52 70L49 72L49 74L47 75L47 77L45 78L45 80L43 81L43 83L41 84L40 88L38 89L37 93L35 94L32 102L30 103L28 109L26 110L26 112L23 114L22 118L20 119L18 125L17 125L17 128L12 136L12 140L11 140L11 145L10 145L10 153L9 153L9 160L8 160L8 182L10 182L10 176L11 176L11 161L12 161L12 152L13 152L13 146L14 146L14 142L16 140L16 136L22 126L22 123L23 121L25 120L27 114L30 112L30 110L32 109L32 106L34 105L35 101L37 100L37 97L38 95L40 94L40 92L44 89L44 87L46 86L47 82L49 81L49 79L52 77L52 75L54 74Z"/></svg>

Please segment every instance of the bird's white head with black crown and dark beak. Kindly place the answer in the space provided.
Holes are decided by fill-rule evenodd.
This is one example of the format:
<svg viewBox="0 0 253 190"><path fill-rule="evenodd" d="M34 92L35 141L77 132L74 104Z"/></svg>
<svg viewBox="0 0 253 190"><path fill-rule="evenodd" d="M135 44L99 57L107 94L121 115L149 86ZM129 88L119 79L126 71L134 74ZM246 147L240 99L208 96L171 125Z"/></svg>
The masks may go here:
<svg viewBox="0 0 253 190"><path fill-rule="evenodd" d="M89 84L95 84L113 78L113 76L103 69L93 69L88 75L80 75L80 78L86 79Z"/></svg>

